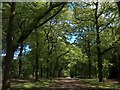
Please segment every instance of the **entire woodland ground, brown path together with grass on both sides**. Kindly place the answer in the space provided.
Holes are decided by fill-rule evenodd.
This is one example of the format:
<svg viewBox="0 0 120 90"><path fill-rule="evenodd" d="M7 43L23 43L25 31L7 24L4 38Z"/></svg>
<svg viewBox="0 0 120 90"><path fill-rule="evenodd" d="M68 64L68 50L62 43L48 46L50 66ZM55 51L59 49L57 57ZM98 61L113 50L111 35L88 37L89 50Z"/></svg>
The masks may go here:
<svg viewBox="0 0 120 90"><path fill-rule="evenodd" d="M85 79L91 82L84 82L83 79L78 78L58 78L53 81L43 80L39 82L34 82L33 80L12 80L12 89L11 90L120 90L117 88L119 82L115 80L106 80L105 82L98 83L92 82L92 79ZM92 83L92 84L90 84ZM115 83L116 87L113 89L110 87L110 83ZM18 86L16 86L18 85Z"/></svg>

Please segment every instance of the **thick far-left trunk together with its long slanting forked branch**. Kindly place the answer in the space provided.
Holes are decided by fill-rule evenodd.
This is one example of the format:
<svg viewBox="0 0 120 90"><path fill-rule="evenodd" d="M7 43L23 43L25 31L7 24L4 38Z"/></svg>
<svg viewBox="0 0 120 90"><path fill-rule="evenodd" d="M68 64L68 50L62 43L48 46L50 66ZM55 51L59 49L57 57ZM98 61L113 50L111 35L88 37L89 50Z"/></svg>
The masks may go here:
<svg viewBox="0 0 120 90"><path fill-rule="evenodd" d="M62 5L64 3L58 3L54 6L52 6L52 8L48 11L46 11L47 13L49 13L51 10L53 10L54 8ZM17 45L14 47L13 45L13 39L12 39L12 32L13 32L13 19L14 19L14 15L15 15L15 6L16 3L12 2L10 3L11 5L11 12L10 12L10 18L9 18L9 26L8 26L8 31L7 31L7 50L6 50L6 56L3 60L3 81L2 81L2 90L9 90L10 89L10 77L11 77L11 64L12 64L12 59L14 57L14 52L15 52L15 48L18 47L18 45L23 42L29 35L30 33L33 31L34 28L32 28L31 30L28 30L28 33L26 34L22 34L22 36L18 39L17 41ZM63 7L62 7L63 8ZM62 10L62 9L60 9ZM58 12L56 12L53 16L49 17L47 20L45 20L43 23L41 23L39 26L44 25L47 21L49 21L50 19L52 19L54 16L56 16L60 10L58 10ZM45 14L46 14L45 12ZM44 14L44 15L45 15ZM43 15L43 16L44 16ZM42 19L43 16L40 16L39 19L37 19L38 21ZM33 24L33 23L32 23ZM35 23L35 25L33 25L33 27L37 27L37 23Z"/></svg>

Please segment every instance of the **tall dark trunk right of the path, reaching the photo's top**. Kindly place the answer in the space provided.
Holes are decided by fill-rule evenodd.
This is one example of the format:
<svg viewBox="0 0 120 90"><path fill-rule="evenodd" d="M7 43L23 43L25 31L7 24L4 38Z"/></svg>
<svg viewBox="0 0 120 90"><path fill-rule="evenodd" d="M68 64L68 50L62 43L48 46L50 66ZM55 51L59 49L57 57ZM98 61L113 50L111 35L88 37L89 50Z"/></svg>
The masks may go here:
<svg viewBox="0 0 120 90"><path fill-rule="evenodd" d="M103 65L102 65L102 53L101 53L101 41L100 41L100 32L99 32L99 25L98 25L98 2L96 2L96 9L95 9L95 25L96 25L96 43L97 43L97 60L98 60L98 77L99 82L103 81Z"/></svg>

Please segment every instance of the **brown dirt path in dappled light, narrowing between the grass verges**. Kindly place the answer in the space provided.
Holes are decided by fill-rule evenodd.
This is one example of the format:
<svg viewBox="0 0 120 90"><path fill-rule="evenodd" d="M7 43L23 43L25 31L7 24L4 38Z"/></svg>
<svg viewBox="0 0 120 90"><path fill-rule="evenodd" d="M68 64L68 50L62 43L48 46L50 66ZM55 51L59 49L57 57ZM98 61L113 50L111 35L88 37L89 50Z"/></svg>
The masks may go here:
<svg viewBox="0 0 120 90"><path fill-rule="evenodd" d="M48 90L93 90L93 88L81 83L77 78L67 77L57 79L56 83L51 85Z"/></svg>

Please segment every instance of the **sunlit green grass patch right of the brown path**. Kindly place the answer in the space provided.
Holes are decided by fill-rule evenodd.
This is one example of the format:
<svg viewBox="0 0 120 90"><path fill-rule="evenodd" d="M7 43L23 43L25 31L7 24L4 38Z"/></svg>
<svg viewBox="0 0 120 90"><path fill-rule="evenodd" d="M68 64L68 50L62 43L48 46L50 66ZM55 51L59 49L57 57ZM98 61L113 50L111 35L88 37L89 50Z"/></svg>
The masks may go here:
<svg viewBox="0 0 120 90"><path fill-rule="evenodd" d="M105 80L104 82L99 82L98 79L80 79L80 81L85 84L89 84L91 87L120 90L120 83L114 80Z"/></svg>

